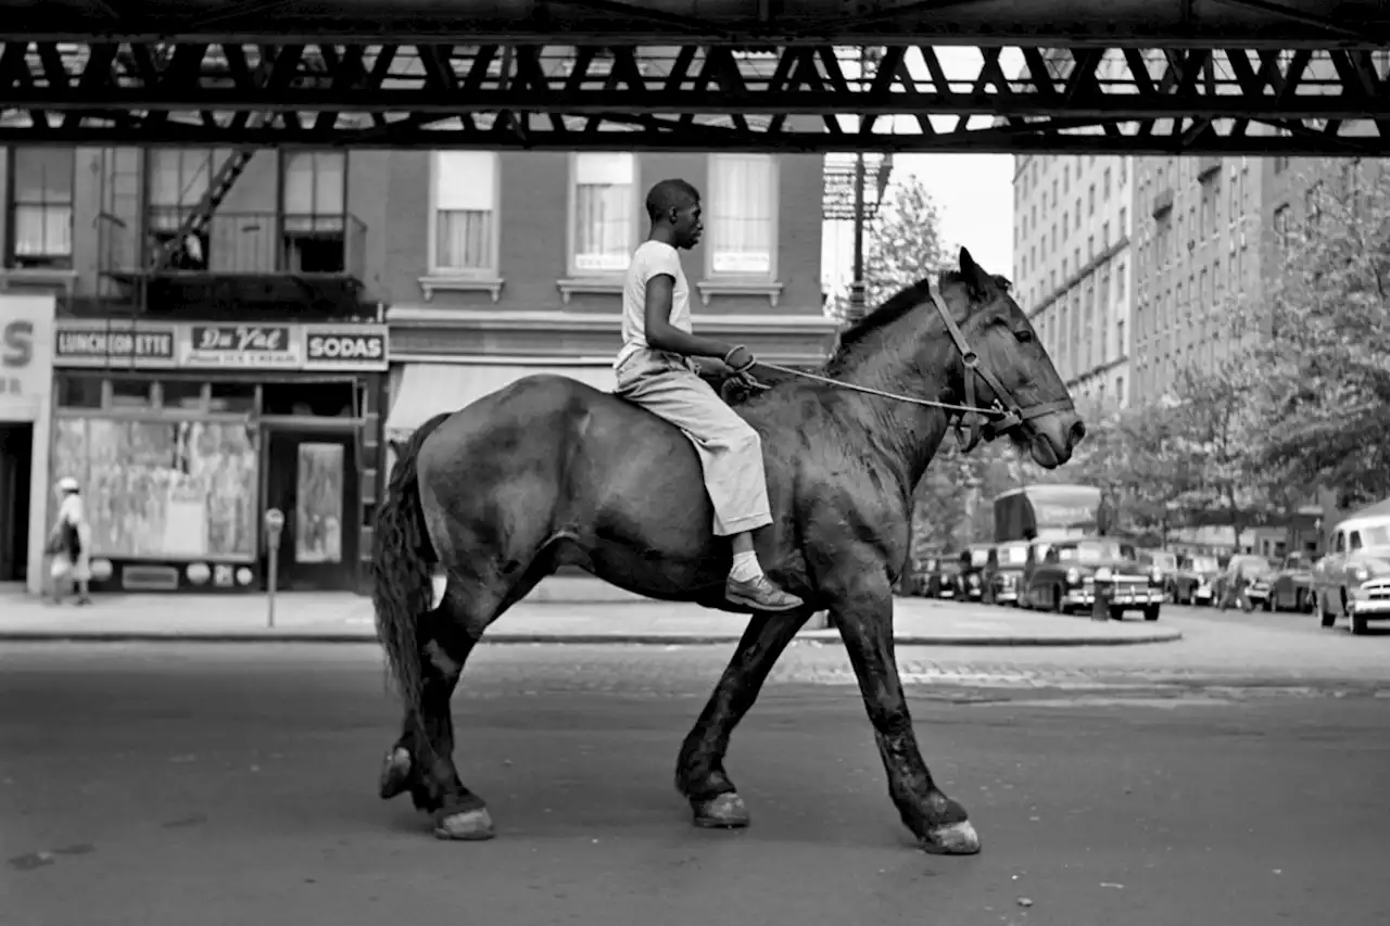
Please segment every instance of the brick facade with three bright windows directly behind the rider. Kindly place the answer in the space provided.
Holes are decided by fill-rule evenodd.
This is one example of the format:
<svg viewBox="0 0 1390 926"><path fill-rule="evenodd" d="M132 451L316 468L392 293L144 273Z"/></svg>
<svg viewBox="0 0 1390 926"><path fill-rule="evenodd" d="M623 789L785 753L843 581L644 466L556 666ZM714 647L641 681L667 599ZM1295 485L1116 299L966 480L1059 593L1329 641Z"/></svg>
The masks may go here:
<svg viewBox="0 0 1390 926"><path fill-rule="evenodd" d="M823 360L819 156L400 152L384 178L388 439L531 373L612 391L646 190L670 177L703 196L705 236L684 254L696 330Z"/></svg>

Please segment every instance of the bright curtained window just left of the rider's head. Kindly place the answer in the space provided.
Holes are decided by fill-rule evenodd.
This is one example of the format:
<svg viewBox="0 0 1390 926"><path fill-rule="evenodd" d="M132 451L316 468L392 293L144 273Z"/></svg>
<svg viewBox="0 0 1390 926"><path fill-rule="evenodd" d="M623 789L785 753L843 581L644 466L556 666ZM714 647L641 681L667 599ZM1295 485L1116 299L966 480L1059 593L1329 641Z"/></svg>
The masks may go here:
<svg viewBox="0 0 1390 926"><path fill-rule="evenodd" d="M637 156L574 156L574 273L620 274L637 242Z"/></svg>

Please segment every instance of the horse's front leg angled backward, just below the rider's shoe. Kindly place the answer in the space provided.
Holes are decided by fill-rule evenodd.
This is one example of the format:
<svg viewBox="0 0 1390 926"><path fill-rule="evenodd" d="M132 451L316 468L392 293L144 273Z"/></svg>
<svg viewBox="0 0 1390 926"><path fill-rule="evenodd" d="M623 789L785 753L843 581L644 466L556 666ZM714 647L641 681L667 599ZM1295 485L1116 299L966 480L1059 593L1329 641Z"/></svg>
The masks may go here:
<svg viewBox="0 0 1390 926"><path fill-rule="evenodd" d="M753 615L714 692L685 736L676 759L676 788L691 802L695 826L748 826L748 808L724 773L728 738L810 615L810 610Z"/></svg>

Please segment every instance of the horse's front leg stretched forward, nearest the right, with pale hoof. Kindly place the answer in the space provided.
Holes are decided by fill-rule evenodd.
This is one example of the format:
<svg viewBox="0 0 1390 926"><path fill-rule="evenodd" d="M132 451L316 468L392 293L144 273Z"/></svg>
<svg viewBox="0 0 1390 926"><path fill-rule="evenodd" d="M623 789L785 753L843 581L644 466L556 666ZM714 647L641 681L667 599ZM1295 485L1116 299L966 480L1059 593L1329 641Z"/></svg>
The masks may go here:
<svg viewBox="0 0 1390 926"><path fill-rule="evenodd" d="M902 822L929 851L973 855L980 837L965 808L931 780L922 759L898 676L892 641L892 587L881 571L859 571L831 606L873 723L888 794Z"/></svg>

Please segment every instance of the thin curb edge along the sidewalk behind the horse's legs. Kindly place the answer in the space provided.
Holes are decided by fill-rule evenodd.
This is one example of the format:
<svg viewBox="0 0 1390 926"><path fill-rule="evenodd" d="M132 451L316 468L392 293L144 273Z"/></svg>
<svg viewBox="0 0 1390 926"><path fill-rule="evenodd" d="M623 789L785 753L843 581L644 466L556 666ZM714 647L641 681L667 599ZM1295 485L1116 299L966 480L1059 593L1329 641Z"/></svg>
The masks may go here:
<svg viewBox="0 0 1390 926"><path fill-rule="evenodd" d="M931 634L898 634L894 641L899 647L1133 647L1141 644L1172 642L1182 640L1179 630L1152 631L1134 637L952 637ZM738 642L741 634L553 634L553 633L507 633L498 631L484 637L484 645L628 645L628 647L714 647ZM838 642L840 634L833 630L813 630L798 634L792 642ZM375 644L374 634L361 633L303 633L303 631L63 631L63 630L3 630L0 642L195 642L195 644Z"/></svg>

